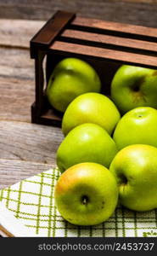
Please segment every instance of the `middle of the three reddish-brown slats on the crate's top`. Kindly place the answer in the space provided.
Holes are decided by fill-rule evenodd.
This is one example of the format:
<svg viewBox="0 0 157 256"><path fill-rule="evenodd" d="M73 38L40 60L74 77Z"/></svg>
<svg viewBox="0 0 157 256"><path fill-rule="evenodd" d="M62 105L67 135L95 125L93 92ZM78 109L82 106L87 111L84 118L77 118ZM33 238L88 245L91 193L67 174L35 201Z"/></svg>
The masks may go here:
<svg viewBox="0 0 157 256"><path fill-rule="evenodd" d="M98 44L106 44L113 45L114 47L126 47L128 49L134 49L134 50L147 50L149 52L157 52L157 44L148 42L148 41L142 41L142 40L136 40L136 39L130 39L130 38L119 38L114 36L108 36L108 35L102 35L98 33L92 33L92 32L81 32L76 30L70 30L66 29L61 34L61 38L70 38L70 42L76 42L76 40L83 40L83 43L86 44L85 41L98 43Z"/></svg>

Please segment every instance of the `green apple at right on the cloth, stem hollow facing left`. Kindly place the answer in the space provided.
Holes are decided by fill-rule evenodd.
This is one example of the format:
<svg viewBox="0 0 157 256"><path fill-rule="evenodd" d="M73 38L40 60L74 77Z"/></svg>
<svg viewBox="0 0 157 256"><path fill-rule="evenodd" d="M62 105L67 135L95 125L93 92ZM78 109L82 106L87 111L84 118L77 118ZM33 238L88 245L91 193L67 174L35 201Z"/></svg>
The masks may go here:
<svg viewBox="0 0 157 256"><path fill-rule="evenodd" d="M135 211L157 207L157 148L127 146L115 155L109 171L116 177L123 206Z"/></svg>

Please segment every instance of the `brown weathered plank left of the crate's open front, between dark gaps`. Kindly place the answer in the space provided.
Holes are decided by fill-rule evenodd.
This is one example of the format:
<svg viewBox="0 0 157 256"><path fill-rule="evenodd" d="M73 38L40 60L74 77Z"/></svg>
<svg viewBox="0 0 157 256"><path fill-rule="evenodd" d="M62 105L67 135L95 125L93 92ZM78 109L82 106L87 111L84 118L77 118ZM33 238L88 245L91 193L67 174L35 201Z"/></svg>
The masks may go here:
<svg viewBox="0 0 157 256"><path fill-rule="evenodd" d="M24 49L0 48L0 119L31 121L34 61Z"/></svg>

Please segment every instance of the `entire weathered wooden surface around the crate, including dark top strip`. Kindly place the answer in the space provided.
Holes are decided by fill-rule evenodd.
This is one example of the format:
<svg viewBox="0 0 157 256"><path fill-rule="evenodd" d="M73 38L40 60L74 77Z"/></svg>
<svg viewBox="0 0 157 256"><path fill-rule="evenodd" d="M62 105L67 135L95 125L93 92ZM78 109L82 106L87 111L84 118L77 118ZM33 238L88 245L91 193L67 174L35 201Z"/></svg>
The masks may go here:
<svg viewBox="0 0 157 256"><path fill-rule="evenodd" d="M69 9L104 20L156 26L157 10L156 0L59 0L51 1L52 9L49 1L3 2L0 0L0 189L54 166L63 139L59 128L31 124L35 86L29 41L44 24L41 20L57 9Z"/></svg>

